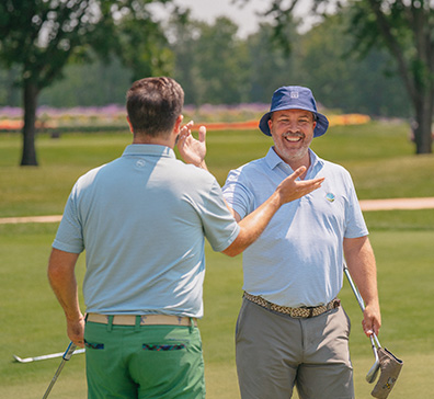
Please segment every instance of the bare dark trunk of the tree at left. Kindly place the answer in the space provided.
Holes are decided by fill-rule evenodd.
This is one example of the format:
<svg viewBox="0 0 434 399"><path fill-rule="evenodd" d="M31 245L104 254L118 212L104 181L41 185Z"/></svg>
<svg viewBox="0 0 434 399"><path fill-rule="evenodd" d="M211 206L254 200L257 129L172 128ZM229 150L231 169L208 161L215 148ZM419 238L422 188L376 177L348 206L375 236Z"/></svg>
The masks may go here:
<svg viewBox="0 0 434 399"><path fill-rule="evenodd" d="M37 167L35 136L36 136L36 104L38 89L30 80L24 81L24 126L23 126L23 156L22 167Z"/></svg>

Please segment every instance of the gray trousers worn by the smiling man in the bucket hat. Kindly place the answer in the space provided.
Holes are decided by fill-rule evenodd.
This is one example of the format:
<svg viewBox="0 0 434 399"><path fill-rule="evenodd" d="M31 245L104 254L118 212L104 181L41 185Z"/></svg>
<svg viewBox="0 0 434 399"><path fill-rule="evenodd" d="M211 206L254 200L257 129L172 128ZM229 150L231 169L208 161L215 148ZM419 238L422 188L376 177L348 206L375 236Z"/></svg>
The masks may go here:
<svg viewBox="0 0 434 399"><path fill-rule="evenodd" d="M243 299L237 321L242 399L353 399L350 319L342 307L294 319Z"/></svg>

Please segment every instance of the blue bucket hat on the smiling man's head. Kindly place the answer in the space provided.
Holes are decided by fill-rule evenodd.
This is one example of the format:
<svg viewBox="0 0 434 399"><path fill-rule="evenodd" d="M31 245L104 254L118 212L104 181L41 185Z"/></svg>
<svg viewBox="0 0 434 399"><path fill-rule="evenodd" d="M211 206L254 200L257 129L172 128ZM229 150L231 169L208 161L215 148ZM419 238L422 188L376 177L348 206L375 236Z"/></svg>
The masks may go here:
<svg viewBox="0 0 434 399"><path fill-rule="evenodd" d="M260 121L259 127L264 135L271 136L269 121L272 113L283 110L305 110L313 113L317 121L313 137L322 136L329 127L329 119L317 111L317 103L310 89L300 86L285 86L274 92L270 112Z"/></svg>

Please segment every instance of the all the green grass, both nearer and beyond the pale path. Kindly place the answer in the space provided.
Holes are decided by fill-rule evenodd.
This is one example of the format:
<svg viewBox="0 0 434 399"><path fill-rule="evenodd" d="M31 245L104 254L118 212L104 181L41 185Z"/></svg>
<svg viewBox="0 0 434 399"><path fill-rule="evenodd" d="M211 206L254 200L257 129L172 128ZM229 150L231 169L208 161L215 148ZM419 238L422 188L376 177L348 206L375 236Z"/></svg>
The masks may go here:
<svg viewBox="0 0 434 399"><path fill-rule="evenodd" d="M361 198L434 196L434 157L415 157L404 125L372 123L335 127L315 141L321 157L344 164ZM37 139L41 167L20 168L20 137L0 136L0 217L60 214L76 179L119 156L130 135L64 135ZM258 132L210 132L209 169L222 183L229 169L265 155L271 141ZM434 212L365 214L378 263L382 306L381 343L404 361L392 399L430 398L434 390ZM42 398L60 358L14 363L61 352L68 345L64 315L46 278L57 224L0 225L0 398ZM235 369L235 323L241 303L241 258L207 251L205 318L201 321L207 398L239 398ZM83 256L77 266L84 274ZM347 284L340 295L353 328L351 352L356 398L370 397L365 375L374 363L362 333L361 310ZM260 378L260 376L259 376ZM50 397L85 397L84 356L67 363ZM324 398L329 399L329 398Z"/></svg>

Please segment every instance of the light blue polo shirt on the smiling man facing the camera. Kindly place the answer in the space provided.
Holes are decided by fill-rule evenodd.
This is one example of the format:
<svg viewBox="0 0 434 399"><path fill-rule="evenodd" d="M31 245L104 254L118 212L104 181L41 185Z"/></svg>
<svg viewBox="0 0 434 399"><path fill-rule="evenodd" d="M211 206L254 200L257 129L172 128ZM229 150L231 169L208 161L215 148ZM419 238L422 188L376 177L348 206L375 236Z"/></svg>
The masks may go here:
<svg viewBox="0 0 434 399"><path fill-rule="evenodd" d="M310 150L306 179L321 187L285 204L243 253L243 289L289 307L318 306L336 297L343 280L343 239L368 233L350 173ZM243 218L293 173L274 151L230 171L226 201Z"/></svg>

